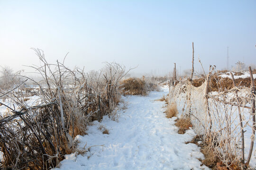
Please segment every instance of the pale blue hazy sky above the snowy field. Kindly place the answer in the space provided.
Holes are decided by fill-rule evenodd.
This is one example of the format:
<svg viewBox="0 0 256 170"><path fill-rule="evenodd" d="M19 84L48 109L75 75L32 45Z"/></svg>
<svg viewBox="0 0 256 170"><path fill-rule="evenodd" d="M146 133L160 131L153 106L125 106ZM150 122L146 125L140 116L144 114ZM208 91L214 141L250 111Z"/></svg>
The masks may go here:
<svg viewBox="0 0 256 170"><path fill-rule="evenodd" d="M139 73L256 64L256 0L0 0L0 65L63 60L87 70L116 61Z"/></svg>

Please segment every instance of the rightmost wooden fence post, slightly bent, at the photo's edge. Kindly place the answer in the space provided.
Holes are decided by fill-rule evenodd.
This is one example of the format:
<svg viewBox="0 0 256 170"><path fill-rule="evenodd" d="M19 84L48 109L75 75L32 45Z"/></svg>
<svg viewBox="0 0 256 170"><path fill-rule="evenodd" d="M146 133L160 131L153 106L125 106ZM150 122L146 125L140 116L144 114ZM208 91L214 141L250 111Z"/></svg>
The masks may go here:
<svg viewBox="0 0 256 170"><path fill-rule="evenodd" d="M251 156L252 156L253 144L254 144L254 138L255 138L255 130L256 130L256 126L255 126L255 99L254 99L255 86L254 86L254 78L253 78L251 67L249 67L249 71L250 71L250 76L251 76L251 99L252 99L251 111L252 111L252 118L253 118L253 126L252 126L253 135L251 137L251 146L250 146L250 150L249 150L248 157L247 157L247 162L246 162L247 165L249 165L250 159L251 159Z"/></svg>

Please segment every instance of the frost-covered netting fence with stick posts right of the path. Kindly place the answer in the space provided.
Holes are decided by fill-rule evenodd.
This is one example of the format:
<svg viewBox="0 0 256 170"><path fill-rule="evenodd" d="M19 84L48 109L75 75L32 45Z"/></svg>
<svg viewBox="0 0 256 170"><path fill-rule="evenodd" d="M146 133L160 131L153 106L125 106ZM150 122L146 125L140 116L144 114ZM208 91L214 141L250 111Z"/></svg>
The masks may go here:
<svg viewBox="0 0 256 170"><path fill-rule="evenodd" d="M223 164L248 167L256 152L255 87L252 83L251 88L234 85L210 92L209 81L210 73L199 87L190 80L170 83L169 103L176 103L181 116L190 116L196 134L203 136Z"/></svg>

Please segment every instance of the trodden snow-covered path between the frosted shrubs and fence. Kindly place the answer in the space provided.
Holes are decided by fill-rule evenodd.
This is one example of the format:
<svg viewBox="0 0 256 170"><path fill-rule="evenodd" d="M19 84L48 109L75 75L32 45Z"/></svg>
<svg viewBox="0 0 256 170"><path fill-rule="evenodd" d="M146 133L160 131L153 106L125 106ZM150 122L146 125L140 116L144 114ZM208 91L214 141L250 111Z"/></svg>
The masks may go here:
<svg viewBox="0 0 256 170"><path fill-rule="evenodd" d="M177 134L174 119L165 117L165 102L155 101L168 93L151 92L148 96L123 97L128 109L119 110L118 121L107 116L94 121L88 135L77 136L79 147L89 148L84 155L66 155L61 170L197 170L203 159L200 149L190 141L194 131ZM110 134L102 134L103 125ZM101 126L102 127L102 126ZM93 146L103 145L104 146Z"/></svg>

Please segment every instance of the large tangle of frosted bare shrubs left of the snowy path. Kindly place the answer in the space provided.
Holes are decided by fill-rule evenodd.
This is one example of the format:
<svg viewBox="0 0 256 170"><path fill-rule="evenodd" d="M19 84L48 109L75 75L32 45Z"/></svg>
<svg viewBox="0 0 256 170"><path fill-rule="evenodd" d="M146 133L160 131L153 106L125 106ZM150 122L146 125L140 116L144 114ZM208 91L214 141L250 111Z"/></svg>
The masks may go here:
<svg viewBox="0 0 256 170"><path fill-rule="evenodd" d="M117 63L106 63L99 72L71 70L64 62L47 63L43 51L34 50L43 65L33 68L43 80L37 82L17 76L39 87L40 104L27 106L20 100L23 93L1 90L16 107L6 106L10 114L0 118L0 152L3 153L0 168L57 167L65 154L75 151L74 137L84 135L89 122L101 121L102 116L116 108L120 98L119 82L129 71Z"/></svg>

